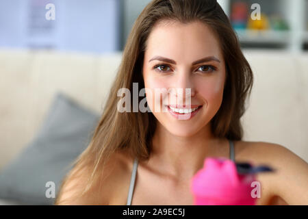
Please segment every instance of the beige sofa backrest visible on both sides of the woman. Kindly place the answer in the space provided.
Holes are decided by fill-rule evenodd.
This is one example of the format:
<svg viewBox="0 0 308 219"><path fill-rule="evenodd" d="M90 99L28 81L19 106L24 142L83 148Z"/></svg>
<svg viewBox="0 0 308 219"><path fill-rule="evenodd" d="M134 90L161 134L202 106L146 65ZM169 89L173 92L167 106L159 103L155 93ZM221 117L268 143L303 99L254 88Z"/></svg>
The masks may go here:
<svg viewBox="0 0 308 219"><path fill-rule="evenodd" d="M286 146L308 161L308 54L244 51L255 83L244 140ZM0 170L36 135L55 92L101 113L122 53L0 50Z"/></svg>

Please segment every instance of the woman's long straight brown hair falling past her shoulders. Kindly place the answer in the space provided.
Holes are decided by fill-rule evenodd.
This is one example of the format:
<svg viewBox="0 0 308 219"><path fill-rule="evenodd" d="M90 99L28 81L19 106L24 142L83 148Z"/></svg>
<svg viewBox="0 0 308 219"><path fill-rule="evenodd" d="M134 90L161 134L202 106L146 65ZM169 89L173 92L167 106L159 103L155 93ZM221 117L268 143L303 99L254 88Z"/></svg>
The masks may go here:
<svg viewBox="0 0 308 219"><path fill-rule="evenodd" d="M117 104L122 97L117 96L117 92L120 88L128 88L133 93L133 82L138 83L139 89L144 88L142 64L146 40L155 23L163 19L181 23L201 21L216 34L227 75L222 105L211 119L211 131L217 138L242 139L240 118L246 110L246 97L251 93L253 73L229 18L213 0L153 0L144 8L131 29L101 120L88 148L75 160L76 165L70 172L70 176L78 175L81 169L90 166L92 175L84 192L97 181L112 153L125 150L139 160L148 159L151 154L156 118L152 112L118 112ZM62 187L66 181L67 177Z"/></svg>

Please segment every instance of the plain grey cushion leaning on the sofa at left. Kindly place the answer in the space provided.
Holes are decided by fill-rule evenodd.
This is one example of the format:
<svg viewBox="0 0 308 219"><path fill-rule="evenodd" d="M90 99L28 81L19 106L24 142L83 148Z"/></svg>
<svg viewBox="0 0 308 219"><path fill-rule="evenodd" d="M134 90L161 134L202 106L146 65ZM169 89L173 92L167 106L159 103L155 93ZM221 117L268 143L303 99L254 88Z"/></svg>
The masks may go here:
<svg viewBox="0 0 308 219"><path fill-rule="evenodd" d="M99 115L57 93L36 138L0 172L0 198L52 205L55 198L47 198L45 192L52 187L45 187L46 183L55 183L57 194L71 162L88 146L98 120Z"/></svg>

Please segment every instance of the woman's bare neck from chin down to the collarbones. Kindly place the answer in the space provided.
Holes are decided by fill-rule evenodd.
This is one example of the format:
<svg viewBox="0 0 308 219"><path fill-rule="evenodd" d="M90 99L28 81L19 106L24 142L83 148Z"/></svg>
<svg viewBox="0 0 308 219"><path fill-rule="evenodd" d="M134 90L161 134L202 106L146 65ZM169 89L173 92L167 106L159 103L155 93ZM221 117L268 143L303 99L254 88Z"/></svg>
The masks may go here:
<svg viewBox="0 0 308 219"><path fill-rule="evenodd" d="M187 181L201 168L205 157L218 155L222 142L214 138L210 123L194 136L175 136L161 124L153 136L151 166L174 181ZM188 178L189 177L189 178Z"/></svg>

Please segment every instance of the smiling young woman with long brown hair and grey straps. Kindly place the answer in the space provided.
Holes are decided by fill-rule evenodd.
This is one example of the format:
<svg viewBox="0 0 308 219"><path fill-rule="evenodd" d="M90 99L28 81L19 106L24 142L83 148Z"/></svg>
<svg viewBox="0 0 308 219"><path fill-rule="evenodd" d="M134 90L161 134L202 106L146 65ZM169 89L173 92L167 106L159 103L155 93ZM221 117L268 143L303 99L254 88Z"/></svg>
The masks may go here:
<svg viewBox="0 0 308 219"><path fill-rule="evenodd" d="M146 92L150 112L119 112L118 90L133 94L133 83L149 90L189 88L190 104L172 101L185 103L185 92L163 91L159 98ZM303 159L279 144L242 141L240 118L252 85L251 67L216 1L151 1L129 35L90 145L55 204L192 205L190 180L204 159L226 157L277 170L257 175L257 205L307 205Z"/></svg>

